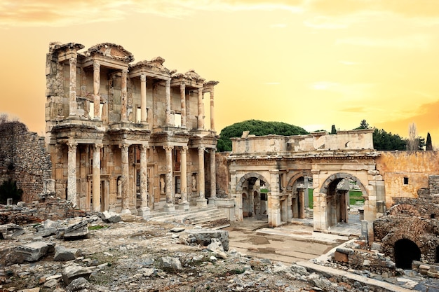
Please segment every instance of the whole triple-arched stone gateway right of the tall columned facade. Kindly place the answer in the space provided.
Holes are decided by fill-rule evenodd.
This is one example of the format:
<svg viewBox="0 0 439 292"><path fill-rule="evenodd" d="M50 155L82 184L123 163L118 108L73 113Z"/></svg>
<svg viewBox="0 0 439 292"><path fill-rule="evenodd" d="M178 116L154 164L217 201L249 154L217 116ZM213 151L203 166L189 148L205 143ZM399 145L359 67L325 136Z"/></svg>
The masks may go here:
<svg viewBox="0 0 439 292"><path fill-rule="evenodd" d="M233 138L233 151L227 160L236 219L256 214L257 198L264 198L260 183L264 183L270 226L304 218L310 204L308 191L313 189L314 229L326 230L348 220L349 188L344 182L354 181L365 197L365 220L372 222L377 216L377 202L384 200L372 132ZM372 225L367 230L372 232Z"/></svg>

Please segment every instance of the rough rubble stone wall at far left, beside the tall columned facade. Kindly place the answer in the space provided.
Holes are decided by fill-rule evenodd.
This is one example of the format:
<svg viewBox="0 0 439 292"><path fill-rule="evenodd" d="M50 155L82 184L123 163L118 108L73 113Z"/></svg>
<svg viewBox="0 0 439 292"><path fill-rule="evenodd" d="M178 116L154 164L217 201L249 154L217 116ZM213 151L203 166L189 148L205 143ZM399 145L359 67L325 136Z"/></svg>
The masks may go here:
<svg viewBox="0 0 439 292"><path fill-rule="evenodd" d="M43 137L28 132L19 122L0 124L0 183L13 179L23 190L22 200L32 202L43 193L43 180L50 179L52 165Z"/></svg>

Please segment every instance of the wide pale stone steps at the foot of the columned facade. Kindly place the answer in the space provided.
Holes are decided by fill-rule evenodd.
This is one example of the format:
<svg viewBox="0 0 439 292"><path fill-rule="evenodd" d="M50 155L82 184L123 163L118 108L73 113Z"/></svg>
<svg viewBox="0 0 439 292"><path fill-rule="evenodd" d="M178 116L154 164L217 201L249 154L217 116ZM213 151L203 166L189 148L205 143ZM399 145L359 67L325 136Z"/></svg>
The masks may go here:
<svg viewBox="0 0 439 292"><path fill-rule="evenodd" d="M178 222L191 225L208 225L213 221L227 219L227 215L215 206L191 206L189 210L176 209L172 212L151 211L151 216L148 218L150 221Z"/></svg>

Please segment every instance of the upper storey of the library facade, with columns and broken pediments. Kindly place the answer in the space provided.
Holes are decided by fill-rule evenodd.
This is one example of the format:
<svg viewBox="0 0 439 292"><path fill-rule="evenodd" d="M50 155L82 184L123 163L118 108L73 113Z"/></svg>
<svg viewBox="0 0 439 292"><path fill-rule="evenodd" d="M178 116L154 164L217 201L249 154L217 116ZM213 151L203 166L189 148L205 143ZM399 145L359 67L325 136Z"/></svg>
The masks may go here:
<svg viewBox="0 0 439 292"><path fill-rule="evenodd" d="M215 132L214 87L195 71L170 71L156 57L133 63L133 55L113 43L85 52L79 43L50 43L46 61L46 121L90 120L100 126L133 123L154 130L181 127ZM204 94L210 94L205 125ZM68 106L62 99L68 99ZM50 99L50 100L49 100ZM50 129L46 129L46 132Z"/></svg>

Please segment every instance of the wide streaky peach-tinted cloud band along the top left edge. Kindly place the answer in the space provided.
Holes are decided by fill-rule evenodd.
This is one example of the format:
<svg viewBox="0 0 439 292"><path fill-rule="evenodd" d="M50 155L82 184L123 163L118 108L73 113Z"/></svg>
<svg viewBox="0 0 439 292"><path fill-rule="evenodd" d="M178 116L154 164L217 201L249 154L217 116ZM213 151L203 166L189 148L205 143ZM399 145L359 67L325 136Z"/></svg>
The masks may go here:
<svg viewBox="0 0 439 292"><path fill-rule="evenodd" d="M301 0L4 0L0 2L0 26L63 27L123 20L134 13L155 14L168 18L182 18L196 11L283 10L300 13L303 11L301 4Z"/></svg>

